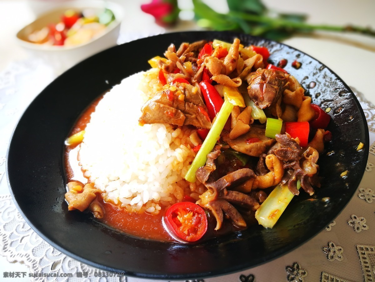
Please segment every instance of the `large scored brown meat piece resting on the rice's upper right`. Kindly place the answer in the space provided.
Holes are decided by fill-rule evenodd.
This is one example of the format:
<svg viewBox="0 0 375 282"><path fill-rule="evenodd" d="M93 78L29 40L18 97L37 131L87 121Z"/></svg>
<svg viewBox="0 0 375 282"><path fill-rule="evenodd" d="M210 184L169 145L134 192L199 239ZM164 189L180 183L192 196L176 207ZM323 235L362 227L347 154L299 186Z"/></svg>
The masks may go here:
<svg viewBox="0 0 375 282"><path fill-rule="evenodd" d="M162 90L148 100L141 109L139 123L168 123L178 126L190 124L210 129L207 108L197 88L186 83L178 84L178 87L174 87L174 92Z"/></svg>

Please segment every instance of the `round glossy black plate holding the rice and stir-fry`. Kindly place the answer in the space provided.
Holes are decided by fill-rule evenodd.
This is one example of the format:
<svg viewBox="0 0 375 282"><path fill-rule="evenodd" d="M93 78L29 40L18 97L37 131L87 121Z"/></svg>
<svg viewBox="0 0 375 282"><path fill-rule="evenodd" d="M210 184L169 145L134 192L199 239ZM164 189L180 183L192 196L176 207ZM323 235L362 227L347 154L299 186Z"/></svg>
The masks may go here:
<svg viewBox="0 0 375 282"><path fill-rule="evenodd" d="M111 86L149 69L147 60L162 55L170 43L200 39L267 46L270 61L288 60L285 69L312 96L331 107L333 141L320 157L322 186L314 200L302 192L273 229L247 230L200 245L154 242L113 231L89 214L68 211L64 201L64 140L85 108ZM298 60L300 69L291 67ZM316 86L314 87L314 84ZM357 152L359 142L365 147ZM326 66L290 46L244 34L169 33L105 50L68 70L31 103L14 130L7 157L13 198L28 224L59 251L90 266L145 278L189 279L234 272L279 257L327 226L356 191L368 158L369 134L362 108L349 87ZM347 177L341 172L348 170Z"/></svg>

